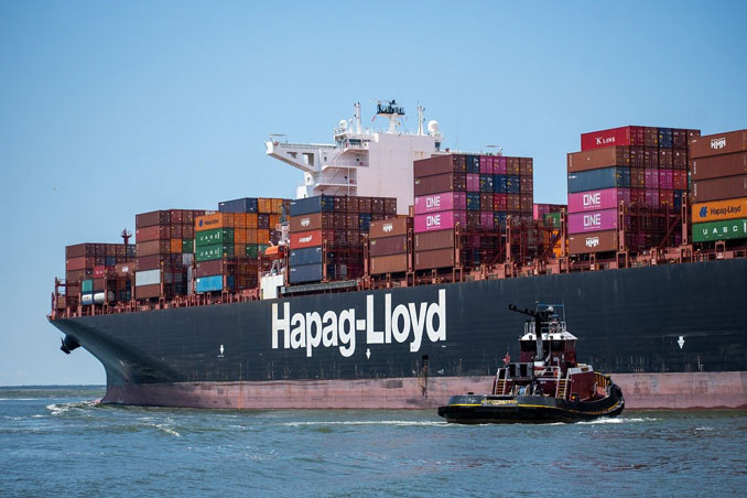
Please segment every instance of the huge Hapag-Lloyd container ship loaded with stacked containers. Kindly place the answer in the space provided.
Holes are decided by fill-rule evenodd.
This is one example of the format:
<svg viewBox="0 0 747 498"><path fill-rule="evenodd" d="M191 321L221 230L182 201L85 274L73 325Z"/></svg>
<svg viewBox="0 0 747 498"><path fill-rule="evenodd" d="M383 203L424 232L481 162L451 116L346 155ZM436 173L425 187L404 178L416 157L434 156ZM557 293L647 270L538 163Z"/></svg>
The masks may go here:
<svg viewBox="0 0 747 498"><path fill-rule="evenodd" d="M636 408L747 407L747 131L581 136L567 204L533 160L386 131L360 106L332 144L271 136L295 199L136 216L66 248L50 323L105 367L102 402L422 409L519 357L509 302L562 303L577 349Z"/></svg>

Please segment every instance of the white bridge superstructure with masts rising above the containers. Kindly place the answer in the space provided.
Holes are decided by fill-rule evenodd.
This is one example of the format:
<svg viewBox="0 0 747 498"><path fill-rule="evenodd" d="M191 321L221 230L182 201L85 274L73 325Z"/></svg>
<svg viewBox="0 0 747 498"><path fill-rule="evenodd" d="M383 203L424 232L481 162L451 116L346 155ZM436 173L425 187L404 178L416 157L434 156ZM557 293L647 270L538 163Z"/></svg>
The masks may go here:
<svg viewBox="0 0 747 498"><path fill-rule="evenodd" d="M423 108L418 108L418 131L400 131L404 109L394 100L379 102L376 116L389 119L386 132L365 130L360 104L355 117L343 120L334 131L335 143L289 143L271 136L264 144L268 155L304 172L296 197L315 195L361 195L397 197L397 210L407 214L413 199L412 162L440 151L439 123L430 121L423 131Z"/></svg>

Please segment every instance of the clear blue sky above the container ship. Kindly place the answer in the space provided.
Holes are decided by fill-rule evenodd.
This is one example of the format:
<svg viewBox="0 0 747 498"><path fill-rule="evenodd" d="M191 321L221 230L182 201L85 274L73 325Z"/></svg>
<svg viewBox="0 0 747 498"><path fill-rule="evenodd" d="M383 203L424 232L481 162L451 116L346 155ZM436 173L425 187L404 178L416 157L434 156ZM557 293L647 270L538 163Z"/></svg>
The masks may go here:
<svg viewBox="0 0 747 498"><path fill-rule="evenodd" d="M134 214L294 194L268 133L328 142L421 102L445 147L534 158L565 202L580 133L747 128L745 2L0 3L0 386L104 383L46 323L64 246ZM407 123L412 130L415 119ZM383 124L382 124L383 126Z"/></svg>

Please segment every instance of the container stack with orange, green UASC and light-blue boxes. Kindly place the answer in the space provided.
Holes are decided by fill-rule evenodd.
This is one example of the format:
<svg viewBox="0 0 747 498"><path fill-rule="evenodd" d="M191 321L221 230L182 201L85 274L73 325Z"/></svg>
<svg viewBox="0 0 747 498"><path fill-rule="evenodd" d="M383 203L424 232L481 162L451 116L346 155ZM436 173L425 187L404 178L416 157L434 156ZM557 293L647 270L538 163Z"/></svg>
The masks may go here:
<svg viewBox="0 0 747 498"><path fill-rule="evenodd" d="M195 219L195 291L243 291L258 284L259 256L277 243L282 198L226 201L220 212Z"/></svg>

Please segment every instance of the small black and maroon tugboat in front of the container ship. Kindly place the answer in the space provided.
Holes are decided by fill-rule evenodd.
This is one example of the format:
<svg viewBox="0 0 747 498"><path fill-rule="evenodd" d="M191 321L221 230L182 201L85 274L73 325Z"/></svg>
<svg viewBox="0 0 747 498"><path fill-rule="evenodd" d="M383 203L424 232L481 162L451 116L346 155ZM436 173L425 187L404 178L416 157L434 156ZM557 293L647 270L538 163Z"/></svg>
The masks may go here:
<svg viewBox="0 0 747 498"><path fill-rule="evenodd" d="M519 362L506 354L489 394L453 396L439 415L451 423L580 422L617 416L622 390L608 375L576 361L576 337L565 328L563 305L509 310L530 316L519 339Z"/></svg>

